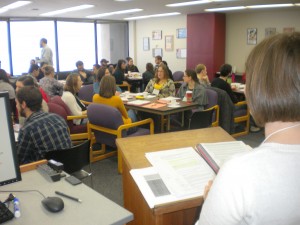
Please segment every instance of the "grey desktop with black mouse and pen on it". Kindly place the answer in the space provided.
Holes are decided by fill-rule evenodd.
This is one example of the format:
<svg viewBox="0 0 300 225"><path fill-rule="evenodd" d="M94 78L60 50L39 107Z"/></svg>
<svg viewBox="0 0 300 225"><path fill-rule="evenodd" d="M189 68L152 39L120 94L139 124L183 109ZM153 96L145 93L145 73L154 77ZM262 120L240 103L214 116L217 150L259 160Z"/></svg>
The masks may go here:
<svg viewBox="0 0 300 225"><path fill-rule="evenodd" d="M42 206L43 197L37 192L14 192L13 190L39 190L46 197L57 196L54 191L61 191L82 200L82 203L61 197L65 207L58 213L51 213ZM22 181L0 187L0 199L5 200L9 193L20 200L21 217L5 224L10 225L122 225L133 220L133 215L126 209L105 198L85 184L72 186L64 178L50 182L38 171L22 173Z"/></svg>

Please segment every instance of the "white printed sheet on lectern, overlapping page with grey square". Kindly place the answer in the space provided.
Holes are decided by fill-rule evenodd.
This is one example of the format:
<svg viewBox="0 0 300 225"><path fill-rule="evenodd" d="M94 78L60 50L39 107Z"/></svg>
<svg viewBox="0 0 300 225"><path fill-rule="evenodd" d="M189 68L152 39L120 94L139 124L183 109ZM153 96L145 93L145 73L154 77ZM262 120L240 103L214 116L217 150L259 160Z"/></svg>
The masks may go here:
<svg viewBox="0 0 300 225"><path fill-rule="evenodd" d="M215 175L192 147L149 152L146 158L176 197L201 196L205 185Z"/></svg>

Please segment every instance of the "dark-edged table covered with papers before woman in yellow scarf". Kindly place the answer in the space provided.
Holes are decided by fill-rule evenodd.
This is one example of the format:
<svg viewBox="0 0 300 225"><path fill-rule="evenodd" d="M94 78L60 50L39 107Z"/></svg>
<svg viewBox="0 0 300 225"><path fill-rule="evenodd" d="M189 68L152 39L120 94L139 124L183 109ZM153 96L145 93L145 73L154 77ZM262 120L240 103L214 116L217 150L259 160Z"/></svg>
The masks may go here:
<svg viewBox="0 0 300 225"><path fill-rule="evenodd" d="M133 99L135 100L135 99ZM156 103L157 102L157 98L151 98L151 99L146 99L149 100L150 103ZM131 100L132 101L132 100ZM174 113L182 113L181 116L181 124L182 126L184 125L184 111L187 110L192 110L192 109L196 109L198 107L198 104L196 103L186 103L183 101L178 101L179 103L179 107L177 108L170 108L168 107L167 104L165 104L165 106L160 107L160 108L146 108L143 105L131 105L130 101L128 102L124 102L124 105L127 109L133 109L136 111L141 111L141 112L148 112L151 114L155 114L155 115L159 115L161 118L161 132L164 132L164 119L166 117L167 119L167 131L170 131L170 115L174 114Z"/></svg>

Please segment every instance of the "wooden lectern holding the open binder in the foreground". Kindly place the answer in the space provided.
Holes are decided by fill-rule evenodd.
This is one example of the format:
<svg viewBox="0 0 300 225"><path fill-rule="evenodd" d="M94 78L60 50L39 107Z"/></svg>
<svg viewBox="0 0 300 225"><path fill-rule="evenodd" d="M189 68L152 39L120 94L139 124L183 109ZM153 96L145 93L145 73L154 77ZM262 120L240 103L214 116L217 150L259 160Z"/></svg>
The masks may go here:
<svg viewBox="0 0 300 225"><path fill-rule="evenodd" d="M203 198L198 197L150 209L129 173L131 169L151 166L145 157L146 152L195 146L201 142L234 140L220 127L117 139L123 158L124 206L134 214L134 220L128 224L194 225L203 203Z"/></svg>

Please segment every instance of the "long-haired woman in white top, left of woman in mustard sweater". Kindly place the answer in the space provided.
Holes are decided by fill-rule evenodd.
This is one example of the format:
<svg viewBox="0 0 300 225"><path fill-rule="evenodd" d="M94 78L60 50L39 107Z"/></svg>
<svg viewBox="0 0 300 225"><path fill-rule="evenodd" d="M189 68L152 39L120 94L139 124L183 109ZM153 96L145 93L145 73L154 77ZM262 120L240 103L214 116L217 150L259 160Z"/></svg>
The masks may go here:
<svg viewBox="0 0 300 225"><path fill-rule="evenodd" d="M86 115L86 107L77 97L81 85L82 81L78 73L71 73L66 79L61 99L70 109L72 116ZM81 120L74 120L74 123L79 125Z"/></svg>

